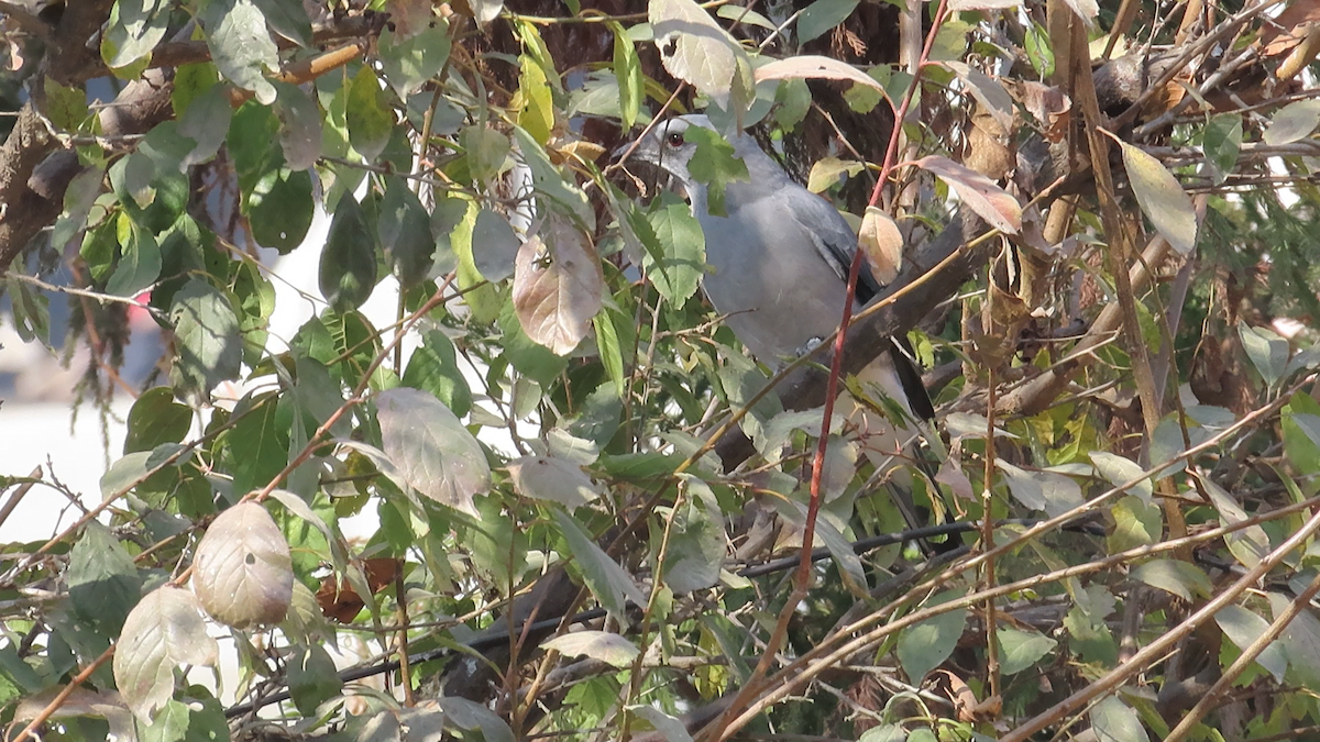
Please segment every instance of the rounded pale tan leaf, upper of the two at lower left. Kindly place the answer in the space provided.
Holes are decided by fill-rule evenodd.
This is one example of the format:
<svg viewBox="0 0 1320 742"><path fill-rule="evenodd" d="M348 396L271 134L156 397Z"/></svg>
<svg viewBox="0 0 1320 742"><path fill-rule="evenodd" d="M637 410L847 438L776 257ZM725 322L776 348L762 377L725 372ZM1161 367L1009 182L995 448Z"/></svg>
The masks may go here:
<svg viewBox="0 0 1320 742"><path fill-rule="evenodd" d="M264 507L239 503L211 523L193 558L193 591L211 618L235 628L284 621L293 561Z"/></svg>

